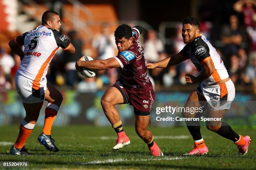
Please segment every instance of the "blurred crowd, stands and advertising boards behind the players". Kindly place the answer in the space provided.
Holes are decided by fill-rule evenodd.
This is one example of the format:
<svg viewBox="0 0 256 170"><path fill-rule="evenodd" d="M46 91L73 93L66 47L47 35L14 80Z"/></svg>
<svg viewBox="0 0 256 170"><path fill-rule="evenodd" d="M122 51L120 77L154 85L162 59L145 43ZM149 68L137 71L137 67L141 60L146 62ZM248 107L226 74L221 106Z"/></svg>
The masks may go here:
<svg viewBox="0 0 256 170"><path fill-rule="evenodd" d="M187 16L200 19L201 33L218 49L229 75L236 85L236 101L256 100L256 1L255 0L1 0L0 1L0 125L19 124L25 117L14 77L20 59L8 47L13 37L41 24L46 10L61 16L61 32L76 48L69 54L59 50L48 70L47 80L63 94L64 102L54 125L108 125L100 105L107 87L119 77L118 69L97 72L93 78L82 77L74 63L82 55L106 59L117 54L113 32L122 23L145 28L140 42L148 62L156 62L179 52L184 43L181 20ZM197 75L190 61L168 69L150 70L156 91L156 105L186 101L196 85L186 85L184 75ZM234 106L235 105L235 106ZM241 114L238 121L248 121L243 105L233 104ZM133 108L118 106L125 124L133 124ZM154 111L154 110L153 110ZM44 123L44 107L38 124ZM250 118L252 121L252 118ZM254 116L254 119L256 117ZM161 124L174 125L174 124Z"/></svg>

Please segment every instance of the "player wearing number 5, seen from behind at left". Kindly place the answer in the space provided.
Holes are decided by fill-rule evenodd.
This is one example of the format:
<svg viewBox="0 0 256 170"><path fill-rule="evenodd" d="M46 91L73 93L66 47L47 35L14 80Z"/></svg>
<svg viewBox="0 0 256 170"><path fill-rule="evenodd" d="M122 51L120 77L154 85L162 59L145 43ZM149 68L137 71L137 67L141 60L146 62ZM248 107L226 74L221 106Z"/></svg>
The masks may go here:
<svg viewBox="0 0 256 170"><path fill-rule="evenodd" d="M46 11L42 15L42 25L9 42L11 50L20 56L21 63L16 73L15 85L26 110L26 117L20 124L18 138L10 149L10 154L29 154L24 145L36 124L44 100L48 104L45 109L44 128L38 136L38 142L50 151L59 151L51 138L51 127L61 105L62 95L47 82L46 74L59 47L67 52L75 52L66 35L59 32L60 26L59 14ZM23 45L24 52L21 50Z"/></svg>

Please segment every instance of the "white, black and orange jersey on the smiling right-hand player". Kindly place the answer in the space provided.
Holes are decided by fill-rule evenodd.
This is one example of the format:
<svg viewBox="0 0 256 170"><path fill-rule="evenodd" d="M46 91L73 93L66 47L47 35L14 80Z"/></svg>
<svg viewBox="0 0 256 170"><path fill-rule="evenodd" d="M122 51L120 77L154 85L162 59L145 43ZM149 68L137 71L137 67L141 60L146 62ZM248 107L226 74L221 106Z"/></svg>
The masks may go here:
<svg viewBox="0 0 256 170"><path fill-rule="evenodd" d="M207 60L212 60L215 67L214 72L210 77L203 81L205 85L210 85L229 77L228 71L223 63L223 60L221 60L220 55L203 35L197 36L191 43L187 44L179 53L182 56L190 59L199 72L203 70L203 62Z"/></svg>

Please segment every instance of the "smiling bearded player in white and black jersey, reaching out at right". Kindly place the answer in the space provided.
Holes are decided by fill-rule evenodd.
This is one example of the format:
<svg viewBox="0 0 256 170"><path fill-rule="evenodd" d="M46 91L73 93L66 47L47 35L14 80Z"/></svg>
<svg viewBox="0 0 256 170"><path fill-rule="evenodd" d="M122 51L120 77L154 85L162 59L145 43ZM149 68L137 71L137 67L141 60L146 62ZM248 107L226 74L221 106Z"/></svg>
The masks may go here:
<svg viewBox="0 0 256 170"><path fill-rule="evenodd" d="M178 54L156 63L148 63L149 69L155 67L170 67L190 59L200 72L198 77L185 75L186 82L200 83L189 96L185 108L202 107L202 101L207 101L207 117L222 118L230 109L235 98L235 86L230 80L228 72L216 52L215 48L200 34L200 23L196 18L185 18L182 21L182 37L187 44ZM182 112L183 117L195 117L197 113ZM194 139L194 149L186 155L201 155L208 152L200 133L199 121L186 122L187 128ZM238 146L238 153L246 155L250 144L249 136L238 135L230 125L222 121L206 122L207 128L224 138L232 140Z"/></svg>

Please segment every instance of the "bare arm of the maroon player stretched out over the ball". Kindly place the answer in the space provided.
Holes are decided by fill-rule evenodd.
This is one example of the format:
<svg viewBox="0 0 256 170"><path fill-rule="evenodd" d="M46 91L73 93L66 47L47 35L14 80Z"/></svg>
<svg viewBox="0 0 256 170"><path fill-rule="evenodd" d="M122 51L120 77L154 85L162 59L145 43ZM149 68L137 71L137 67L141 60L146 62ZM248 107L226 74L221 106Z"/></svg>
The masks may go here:
<svg viewBox="0 0 256 170"><path fill-rule="evenodd" d="M108 70L111 68L121 67L119 62L114 58L108 58L107 60L91 60L82 61L84 57L81 57L76 62L76 69L81 71L81 68L87 68L89 70Z"/></svg>

